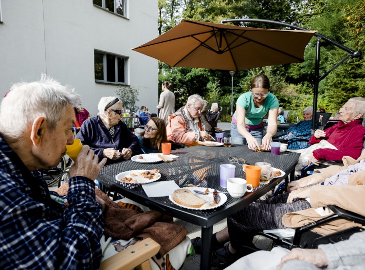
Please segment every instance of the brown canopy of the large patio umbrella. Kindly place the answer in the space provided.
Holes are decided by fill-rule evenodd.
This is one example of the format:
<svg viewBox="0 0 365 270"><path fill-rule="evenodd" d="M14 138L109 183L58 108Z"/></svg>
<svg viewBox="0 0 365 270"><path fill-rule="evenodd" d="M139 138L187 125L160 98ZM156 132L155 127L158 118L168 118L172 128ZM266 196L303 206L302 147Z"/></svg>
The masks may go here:
<svg viewBox="0 0 365 270"><path fill-rule="evenodd" d="M183 19L163 35L131 50L172 67L239 71L303 62L304 49L315 33Z"/></svg>

